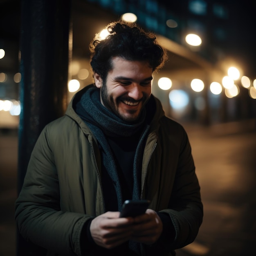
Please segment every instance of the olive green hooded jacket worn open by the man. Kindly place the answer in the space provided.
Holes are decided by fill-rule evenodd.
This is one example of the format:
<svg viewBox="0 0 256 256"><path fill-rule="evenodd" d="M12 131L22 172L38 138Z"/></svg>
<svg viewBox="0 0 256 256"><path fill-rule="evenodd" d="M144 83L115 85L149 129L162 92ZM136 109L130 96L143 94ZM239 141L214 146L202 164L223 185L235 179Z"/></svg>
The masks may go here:
<svg viewBox="0 0 256 256"><path fill-rule="evenodd" d="M84 223L104 213L97 140L73 108L85 90L73 97L65 116L41 132L16 200L20 234L46 248L48 255L81 255ZM197 236L202 203L186 132L155 101L157 109L143 155L141 198L151 201L149 208L170 216L175 240L163 238L159 244L171 252Z"/></svg>

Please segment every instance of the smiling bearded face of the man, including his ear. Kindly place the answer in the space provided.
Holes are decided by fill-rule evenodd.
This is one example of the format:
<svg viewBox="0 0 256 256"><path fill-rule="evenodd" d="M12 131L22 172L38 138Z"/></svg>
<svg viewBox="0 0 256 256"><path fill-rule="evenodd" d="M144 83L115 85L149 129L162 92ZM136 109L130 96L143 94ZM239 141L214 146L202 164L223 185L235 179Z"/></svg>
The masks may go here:
<svg viewBox="0 0 256 256"><path fill-rule="evenodd" d="M101 103L124 121L136 121L151 94L152 67L118 56L112 58L112 67L106 83L94 72L95 85L101 88Z"/></svg>

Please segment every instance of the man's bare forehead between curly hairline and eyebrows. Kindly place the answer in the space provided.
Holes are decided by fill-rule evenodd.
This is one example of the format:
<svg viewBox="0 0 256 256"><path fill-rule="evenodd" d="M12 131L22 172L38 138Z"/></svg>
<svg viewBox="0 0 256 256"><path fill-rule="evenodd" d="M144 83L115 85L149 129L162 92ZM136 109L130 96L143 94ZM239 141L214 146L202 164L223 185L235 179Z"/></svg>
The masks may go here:
<svg viewBox="0 0 256 256"><path fill-rule="evenodd" d="M147 61L128 61L122 57L112 58L112 70L108 74L118 76L139 76L141 78L151 76L153 68Z"/></svg>

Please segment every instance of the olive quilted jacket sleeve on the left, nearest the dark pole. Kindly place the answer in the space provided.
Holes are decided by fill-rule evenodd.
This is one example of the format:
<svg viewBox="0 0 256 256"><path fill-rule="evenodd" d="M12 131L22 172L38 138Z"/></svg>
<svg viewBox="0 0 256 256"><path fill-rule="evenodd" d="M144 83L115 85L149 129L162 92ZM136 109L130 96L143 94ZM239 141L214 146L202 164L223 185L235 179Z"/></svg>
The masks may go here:
<svg viewBox="0 0 256 256"><path fill-rule="evenodd" d="M47 129L31 154L16 200L15 218L26 240L61 255L81 255L80 233L90 216L61 211L58 175Z"/></svg>

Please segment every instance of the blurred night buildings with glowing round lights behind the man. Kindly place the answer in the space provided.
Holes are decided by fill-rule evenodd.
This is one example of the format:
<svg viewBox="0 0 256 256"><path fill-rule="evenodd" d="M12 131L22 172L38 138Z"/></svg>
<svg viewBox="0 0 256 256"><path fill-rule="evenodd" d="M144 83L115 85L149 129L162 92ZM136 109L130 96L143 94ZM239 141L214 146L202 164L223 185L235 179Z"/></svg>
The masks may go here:
<svg viewBox="0 0 256 256"><path fill-rule="evenodd" d="M132 13L168 50L169 61L153 79L167 115L199 124L255 118L252 7L247 0L72 0L69 100L92 82L94 35ZM0 0L0 128L18 127L20 22L20 1Z"/></svg>

